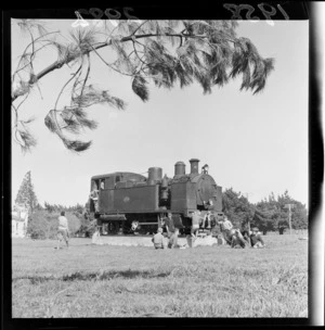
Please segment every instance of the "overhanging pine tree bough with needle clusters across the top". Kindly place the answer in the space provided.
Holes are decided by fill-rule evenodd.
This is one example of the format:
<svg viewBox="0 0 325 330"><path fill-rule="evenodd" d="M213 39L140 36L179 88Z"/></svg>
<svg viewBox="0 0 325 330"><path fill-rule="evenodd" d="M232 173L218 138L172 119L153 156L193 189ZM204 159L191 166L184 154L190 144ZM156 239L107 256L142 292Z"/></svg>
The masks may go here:
<svg viewBox="0 0 325 330"><path fill-rule="evenodd" d="M148 100L150 81L164 88L172 88L177 82L185 87L196 81L204 93L210 93L213 86L222 87L242 75L240 90L258 93L274 68L273 59L263 59L248 38L236 37L235 21L119 21L116 27L105 21L102 27L79 27L68 36L47 31L36 20L14 22L30 38L12 75L13 130L23 151L30 150L37 141L28 129L32 118L22 120L20 107L35 87L40 91L44 76L65 65L70 68L70 75L62 82L44 124L75 152L91 145L91 141L78 140L82 129L98 126L88 118L87 110L93 104L126 106L123 100L91 82L93 56L108 69L130 77L132 90L144 102ZM36 73L34 64L49 48L57 52L57 60ZM110 51L109 56L105 50ZM114 60L108 60L112 52ZM61 97L67 89L69 104L62 104Z"/></svg>

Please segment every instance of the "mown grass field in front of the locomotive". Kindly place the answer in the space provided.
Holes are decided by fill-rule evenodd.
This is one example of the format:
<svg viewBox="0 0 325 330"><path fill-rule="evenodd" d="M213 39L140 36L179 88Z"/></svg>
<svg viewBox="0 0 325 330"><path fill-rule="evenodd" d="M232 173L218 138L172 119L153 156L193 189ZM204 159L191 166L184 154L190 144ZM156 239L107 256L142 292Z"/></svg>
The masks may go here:
<svg viewBox="0 0 325 330"><path fill-rule="evenodd" d="M14 318L308 317L308 241L185 250L13 239Z"/></svg>

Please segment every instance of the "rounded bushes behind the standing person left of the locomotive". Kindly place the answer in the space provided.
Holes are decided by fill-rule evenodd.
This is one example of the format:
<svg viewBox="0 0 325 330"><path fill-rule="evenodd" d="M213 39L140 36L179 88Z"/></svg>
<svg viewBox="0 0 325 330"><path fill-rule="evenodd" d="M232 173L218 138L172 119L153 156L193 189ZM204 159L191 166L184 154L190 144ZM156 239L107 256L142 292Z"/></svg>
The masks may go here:
<svg viewBox="0 0 325 330"><path fill-rule="evenodd" d="M57 212L35 211L28 220L27 234L36 240L56 239L58 216L60 213ZM74 237L80 228L80 219L70 212L66 213L66 217L68 219L69 233Z"/></svg>

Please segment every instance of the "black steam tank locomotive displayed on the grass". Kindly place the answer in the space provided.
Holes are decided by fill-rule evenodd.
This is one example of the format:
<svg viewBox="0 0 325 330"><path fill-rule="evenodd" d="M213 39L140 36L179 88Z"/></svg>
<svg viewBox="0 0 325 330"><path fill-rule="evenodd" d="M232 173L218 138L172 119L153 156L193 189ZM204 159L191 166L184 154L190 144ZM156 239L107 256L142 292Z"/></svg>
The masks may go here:
<svg viewBox="0 0 325 330"><path fill-rule="evenodd" d="M162 177L160 167L148 168L147 178L128 172L93 176L91 191L96 190L98 198L90 198L89 212L102 233L155 232L168 212L181 216L181 233L190 232L195 211L222 217L222 188L208 170L198 172L199 160L190 163L191 173L185 174L185 164L178 162L173 178Z"/></svg>

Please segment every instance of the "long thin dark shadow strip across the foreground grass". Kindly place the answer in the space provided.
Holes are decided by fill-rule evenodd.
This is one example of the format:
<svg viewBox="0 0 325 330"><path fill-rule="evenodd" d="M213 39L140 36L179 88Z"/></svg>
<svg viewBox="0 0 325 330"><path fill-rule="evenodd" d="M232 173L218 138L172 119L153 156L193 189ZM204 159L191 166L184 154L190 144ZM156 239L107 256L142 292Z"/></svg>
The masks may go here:
<svg viewBox="0 0 325 330"><path fill-rule="evenodd" d="M62 281L89 281L89 280L112 280L116 278L123 279L133 279L133 278L159 278L167 277L171 274L171 271L166 272L153 272L148 270L113 270L113 271L98 271L98 272L80 272L76 271L73 274L64 275L61 277L54 276L28 276L28 277L18 277L13 279L17 280L29 280L31 284L42 283L49 280L62 280Z"/></svg>

